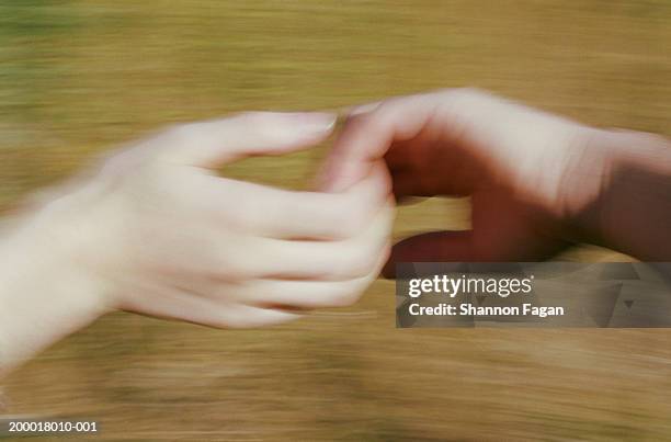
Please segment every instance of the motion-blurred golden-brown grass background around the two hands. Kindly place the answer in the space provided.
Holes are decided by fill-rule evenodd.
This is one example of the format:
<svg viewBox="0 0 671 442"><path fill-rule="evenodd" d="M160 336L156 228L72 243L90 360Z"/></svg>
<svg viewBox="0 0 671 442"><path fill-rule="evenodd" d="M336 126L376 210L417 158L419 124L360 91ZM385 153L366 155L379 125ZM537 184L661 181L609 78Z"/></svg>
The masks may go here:
<svg viewBox="0 0 671 442"><path fill-rule="evenodd" d="M476 86L669 135L670 42L668 0L0 0L0 213L146 131L242 110ZM304 186L322 152L230 173ZM432 200L395 234L467 224ZM11 411L103 440L671 440L671 331L397 330L393 291L263 330L110 315L4 379Z"/></svg>

